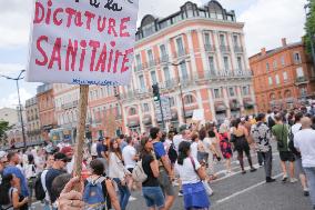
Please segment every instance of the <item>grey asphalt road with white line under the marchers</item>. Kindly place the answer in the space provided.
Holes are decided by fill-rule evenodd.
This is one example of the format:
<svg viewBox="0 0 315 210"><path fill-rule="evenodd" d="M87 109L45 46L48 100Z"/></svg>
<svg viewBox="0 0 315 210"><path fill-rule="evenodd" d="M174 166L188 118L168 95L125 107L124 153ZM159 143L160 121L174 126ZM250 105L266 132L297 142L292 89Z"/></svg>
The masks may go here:
<svg viewBox="0 0 315 210"><path fill-rule="evenodd" d="M256 156L252 153L254 163ZM234 156L236 157L236 156ZM280 158L274 152L273 176L277 178L274 183L265 183L264 168L258 168L256 172L241 173L237 161L232 162L233 173L225 176L223 163L215 164L219 171L219 180L211 183L214 194L211 197L211 210L311 210L309 198L303 196L299 182L282 183L282 171ZM247 161L245 160L245 163ZM257 168L257 164L255 164ZM128 210L146 209L144 199L140 192L132 192L136 198L130 201ZM41 204L35 204L35 209L42 209ZM172 210L182 210L183 198L177 197Z"/></svg>

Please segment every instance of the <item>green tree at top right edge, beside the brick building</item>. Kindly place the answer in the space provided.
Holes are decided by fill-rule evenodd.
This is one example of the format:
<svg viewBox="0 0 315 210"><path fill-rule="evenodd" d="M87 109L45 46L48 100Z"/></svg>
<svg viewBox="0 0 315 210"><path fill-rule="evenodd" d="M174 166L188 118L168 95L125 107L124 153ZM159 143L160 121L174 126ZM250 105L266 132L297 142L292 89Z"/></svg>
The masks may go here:
<svg viewBox="0 0 315 210"><path fill-rule="evenodd" d="M307 6L307 19L305 23L306 36L304 37L304 42L306 43L306 52L307 54L312 54L312 44L311 39L315 36L315 0L308 0Z"/></svg>

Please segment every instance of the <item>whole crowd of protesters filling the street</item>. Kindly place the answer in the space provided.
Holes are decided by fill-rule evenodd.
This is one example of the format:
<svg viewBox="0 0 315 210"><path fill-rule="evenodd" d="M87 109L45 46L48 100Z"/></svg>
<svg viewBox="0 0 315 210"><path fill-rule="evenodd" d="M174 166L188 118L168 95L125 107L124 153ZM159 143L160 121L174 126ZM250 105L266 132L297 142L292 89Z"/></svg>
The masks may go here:
<svg viewBox="0 0 315 210"><path fill-rule="evenodd" d="M150 210L171 209L177 196L183 197L185 210L205 210L211 207L211 181L217 179L215 162L224 162L231 176L235 156L241 173L254 173L257 169L251 153L257 153L266 182L276 181L272 177L273 141L281 159L281 181L297 182L297 170L303 194L311 196L315 209L314 126L314 113L304 110L270 111L222 124L183 124L167 133L154 127L149 133L101 137L84 148L81 178L71 178L73 146L65 142L0 151L0 209L28 209L38 199L44 210L125 210L135 199L131 192L141 190ZM141 182L134 180L139 167L145 174Z"/></svg>

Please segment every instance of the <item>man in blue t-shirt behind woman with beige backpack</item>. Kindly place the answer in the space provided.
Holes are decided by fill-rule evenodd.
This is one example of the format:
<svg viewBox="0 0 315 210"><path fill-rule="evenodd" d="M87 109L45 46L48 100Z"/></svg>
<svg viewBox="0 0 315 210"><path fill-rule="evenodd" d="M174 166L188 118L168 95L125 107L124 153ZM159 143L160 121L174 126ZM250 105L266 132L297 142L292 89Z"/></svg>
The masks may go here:
<svg viewBox="0 0 315 210"><path fill-rule="evenodd" d="M184 133L183 138L187 138L189 133ZM172 184L172 181L174 180L174 173L171 167L171 161L167 158L166 151L164 149L164 146L162 142L160 142L160 139L162 138L162 132L160 128L153 127L150 129L150 137L152 138L152 143L154 148L154 152L156 156L156 159L159 160L159 182L166 196L165 200L165 210L171 209L175 201L175 190Z"/></svg>

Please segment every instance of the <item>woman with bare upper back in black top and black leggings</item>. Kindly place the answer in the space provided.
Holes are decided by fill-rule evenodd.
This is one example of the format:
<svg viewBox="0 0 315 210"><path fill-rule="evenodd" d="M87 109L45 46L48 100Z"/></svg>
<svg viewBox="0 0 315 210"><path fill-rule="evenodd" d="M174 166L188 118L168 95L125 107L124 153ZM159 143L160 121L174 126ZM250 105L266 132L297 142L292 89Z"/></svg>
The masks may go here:
<svg viewBox="0 0 315 210"><path fill-rule="evenodd" d="M251 149L247 142L248 132L247 129L242 126L241 119L237 118L232 128L231 141L234 143L234 149L237 151L237 159L242 169L242 173L246 173L244 168L244 152L247 157L251 172L255 172L257 169L253 167Z"/></svg>

